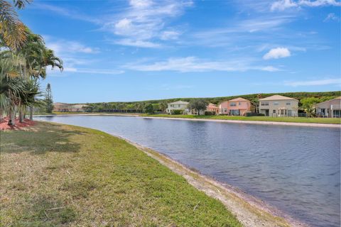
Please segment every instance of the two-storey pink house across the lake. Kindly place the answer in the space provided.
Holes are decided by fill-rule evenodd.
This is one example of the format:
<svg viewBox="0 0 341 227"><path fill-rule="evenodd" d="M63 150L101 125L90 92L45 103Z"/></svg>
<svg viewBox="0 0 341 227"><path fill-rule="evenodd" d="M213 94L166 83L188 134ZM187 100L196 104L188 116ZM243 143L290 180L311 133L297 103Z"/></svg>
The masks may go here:
<svg viewBox="0 0 341 227"><path fill-rule="evenodd" d="M253 109L251 101L243 98L224 101L219 105L220 114L244 116L244 114L251 111L251 109Z"/></svg>

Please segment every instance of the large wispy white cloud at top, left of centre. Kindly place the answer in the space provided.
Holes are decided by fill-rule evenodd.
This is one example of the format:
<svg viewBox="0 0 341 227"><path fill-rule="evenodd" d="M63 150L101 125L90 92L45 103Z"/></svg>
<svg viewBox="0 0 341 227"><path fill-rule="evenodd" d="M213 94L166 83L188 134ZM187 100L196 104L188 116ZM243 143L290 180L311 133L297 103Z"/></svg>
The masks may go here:
<svg viewBox="0 0 341 227"><path fill-rule="evenodd" d="M102 30L121 36L119 45L155 48L155 40L174 40L180 33L169 31L168 21L180 16L192 1L131 0L129 7L114 18L104 19Z"/></svg>

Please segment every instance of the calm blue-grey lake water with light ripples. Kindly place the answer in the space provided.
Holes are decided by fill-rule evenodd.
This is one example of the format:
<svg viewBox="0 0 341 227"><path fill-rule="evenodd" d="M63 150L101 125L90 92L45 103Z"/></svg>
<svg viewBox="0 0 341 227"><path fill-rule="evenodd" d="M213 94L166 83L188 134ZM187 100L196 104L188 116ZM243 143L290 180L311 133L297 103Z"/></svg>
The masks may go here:
<svg viewBox="0 0 341 227"><path fill-rule="evenodd" d="M340 226L340 129L53 116L120 135L239 187L311 226Z"/></svg>

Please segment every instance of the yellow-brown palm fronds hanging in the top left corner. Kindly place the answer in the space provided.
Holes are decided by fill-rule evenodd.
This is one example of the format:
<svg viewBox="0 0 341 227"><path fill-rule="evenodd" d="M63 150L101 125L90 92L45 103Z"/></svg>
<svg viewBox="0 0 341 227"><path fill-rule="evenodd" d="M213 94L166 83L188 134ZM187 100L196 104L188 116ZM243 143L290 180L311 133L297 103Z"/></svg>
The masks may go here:
<svg viewBox="0 0 341 227"><path fill-rule="evenodd" d="M0 0L0 45L18 50L26 42L26 26L19 20L16 9L23 9L30 0Z"/></svg>

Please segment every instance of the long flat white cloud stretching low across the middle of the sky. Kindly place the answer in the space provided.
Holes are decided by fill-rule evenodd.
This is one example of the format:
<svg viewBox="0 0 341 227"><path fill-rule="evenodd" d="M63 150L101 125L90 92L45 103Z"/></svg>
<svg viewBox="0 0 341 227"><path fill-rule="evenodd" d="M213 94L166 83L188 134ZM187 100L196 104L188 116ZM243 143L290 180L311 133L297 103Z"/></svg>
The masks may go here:
<svg viewBox="0 0 341 227"><path fill-rule="evenodd" d="M231 60L231 61L207 61L198 59L197 57L178 57L169 58L163 62L137 63L127 64L124 67L137 71L175 71L175 72L210 72L210 71L227 71L227 72L244 72L247 70L261 70L274 72L278 71L276 67L271 66L255 66L247 60Z"/></svg>

